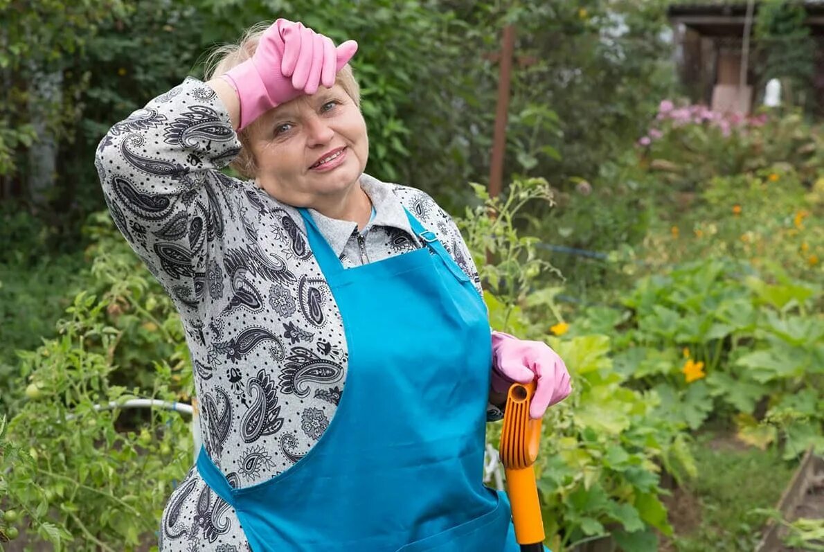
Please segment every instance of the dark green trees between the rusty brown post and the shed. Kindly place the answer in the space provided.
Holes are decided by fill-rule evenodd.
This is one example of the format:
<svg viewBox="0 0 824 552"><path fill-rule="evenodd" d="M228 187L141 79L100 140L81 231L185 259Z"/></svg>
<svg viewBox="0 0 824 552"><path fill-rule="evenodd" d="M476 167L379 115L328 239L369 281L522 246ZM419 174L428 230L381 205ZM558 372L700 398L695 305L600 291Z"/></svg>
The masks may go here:
<svg viewBox="0 0 824 552"><path fill-rule="evenodd" d="M545 106L559 115L534 134L517 116L510 123L512 174L552 175L562 189L569 178L592 179L643 132L658 98L675 85L663 42L666 2L518 2L504 17L517 28L516 62L522 59L511 113ZM516 138L524 135L549 147L534 168L519 158L530 153Z"/></svg>

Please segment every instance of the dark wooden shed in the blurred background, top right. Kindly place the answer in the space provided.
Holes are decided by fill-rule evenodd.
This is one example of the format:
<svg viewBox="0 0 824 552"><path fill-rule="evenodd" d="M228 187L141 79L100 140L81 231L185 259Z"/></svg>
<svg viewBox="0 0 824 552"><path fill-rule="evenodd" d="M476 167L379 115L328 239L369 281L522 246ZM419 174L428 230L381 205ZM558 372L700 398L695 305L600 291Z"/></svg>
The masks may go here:
<svg viewBox="0 0 824 552"><path fill-rule="evenodd" d="M758 16L754 3L751 30ZM817 44L816 74L812 86L816 110L824 111L824 1L803 2L807 25ZM754 44L748 54L746 86L742 87L743 36L747 2L680 2L668 8L676 44L679 77L691 101L714 110L749 113L761 105L764 91ZM752 36L752 32L751 32Z"/></svg>

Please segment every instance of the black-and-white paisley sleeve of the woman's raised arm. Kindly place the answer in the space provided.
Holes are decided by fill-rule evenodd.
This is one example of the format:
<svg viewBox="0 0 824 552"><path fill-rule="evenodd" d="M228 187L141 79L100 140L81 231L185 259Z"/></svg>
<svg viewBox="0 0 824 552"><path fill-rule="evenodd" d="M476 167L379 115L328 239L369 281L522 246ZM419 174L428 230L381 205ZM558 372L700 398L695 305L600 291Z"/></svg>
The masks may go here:
<svg viewBox="0 0 824 552"><path fill-rule="evenodd" d="M204 82L186 78L115 124L95 166L115 226L176 302L199 311L208 259L234 218L220 169L240 151L229 115Z"/></svg>

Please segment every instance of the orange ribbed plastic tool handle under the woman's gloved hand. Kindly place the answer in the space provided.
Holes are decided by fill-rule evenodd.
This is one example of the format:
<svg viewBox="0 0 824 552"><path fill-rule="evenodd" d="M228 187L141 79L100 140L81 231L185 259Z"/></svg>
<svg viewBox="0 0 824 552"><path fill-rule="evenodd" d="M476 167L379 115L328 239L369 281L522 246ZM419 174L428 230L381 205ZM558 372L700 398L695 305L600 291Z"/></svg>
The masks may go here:
<svg viewBox="0 0 824 552"><path fill-rule="evenodd" d="M535 382L509 387L501 430L501 463L507 475L515 540L522 552L543 552L544 522L532 465L538 457L541 419L529 418Z"/></svg>

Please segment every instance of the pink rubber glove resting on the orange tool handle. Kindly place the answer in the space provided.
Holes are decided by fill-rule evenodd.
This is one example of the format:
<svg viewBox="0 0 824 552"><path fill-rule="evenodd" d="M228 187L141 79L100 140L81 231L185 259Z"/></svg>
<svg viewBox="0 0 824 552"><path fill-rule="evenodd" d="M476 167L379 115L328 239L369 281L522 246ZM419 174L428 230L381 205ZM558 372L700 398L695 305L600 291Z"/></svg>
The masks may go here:
<svg viewBox="0 0 824 552"><path fill-rule="evenodd" d="M514 381L535 380L535 396L529 408L532 419L541 418L546 409L572 392L564 361L541 341L517 339L503 332L492 332L492 389L503 393Z"/></svg>

